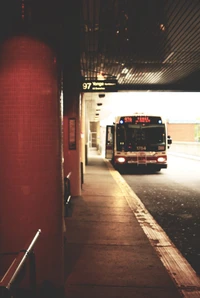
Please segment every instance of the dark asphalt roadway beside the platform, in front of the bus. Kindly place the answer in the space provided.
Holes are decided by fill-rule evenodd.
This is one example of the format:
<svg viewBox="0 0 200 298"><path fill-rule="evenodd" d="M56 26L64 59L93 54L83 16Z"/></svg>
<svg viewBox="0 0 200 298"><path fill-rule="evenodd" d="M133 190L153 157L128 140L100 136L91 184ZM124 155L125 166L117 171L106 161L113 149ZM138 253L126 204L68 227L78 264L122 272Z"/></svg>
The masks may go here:
<svg viewBox="0 0 200 298"><path fill-rule="evenodd" d="M200 275L200 161L169 155L167 169L122 176Z"/></svg>

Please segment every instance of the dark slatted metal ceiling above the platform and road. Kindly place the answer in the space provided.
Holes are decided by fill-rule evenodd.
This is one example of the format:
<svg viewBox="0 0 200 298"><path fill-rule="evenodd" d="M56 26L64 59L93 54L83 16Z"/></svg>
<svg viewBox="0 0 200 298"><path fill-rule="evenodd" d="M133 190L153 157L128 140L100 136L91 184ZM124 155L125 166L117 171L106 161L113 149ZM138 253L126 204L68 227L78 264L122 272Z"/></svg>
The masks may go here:
<svg viewBox="0 0 200 298"><path fill-rule="evenodd" d="M82 0L81 5L85 80L117 79L121 89L130 90L178 89L192 74L198 77L199 0Z"/></svg>

